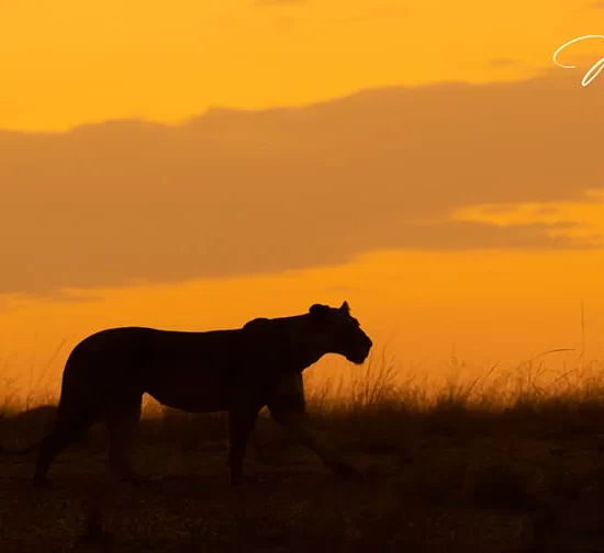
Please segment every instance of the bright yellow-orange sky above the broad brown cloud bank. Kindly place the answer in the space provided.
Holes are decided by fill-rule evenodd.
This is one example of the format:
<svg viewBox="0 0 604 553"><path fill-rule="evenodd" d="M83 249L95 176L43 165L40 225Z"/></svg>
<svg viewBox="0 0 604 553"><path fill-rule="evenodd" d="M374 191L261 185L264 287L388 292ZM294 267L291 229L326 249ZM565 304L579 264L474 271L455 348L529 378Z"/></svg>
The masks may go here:
<svg viewBox="0 0 604 553"><path fill-rule="evenodd" d="M180 121L213 105L527 77L562 43L603 25L597 0L5 1L0 126ZM599 52L572 50L590 48Z"/></svg>

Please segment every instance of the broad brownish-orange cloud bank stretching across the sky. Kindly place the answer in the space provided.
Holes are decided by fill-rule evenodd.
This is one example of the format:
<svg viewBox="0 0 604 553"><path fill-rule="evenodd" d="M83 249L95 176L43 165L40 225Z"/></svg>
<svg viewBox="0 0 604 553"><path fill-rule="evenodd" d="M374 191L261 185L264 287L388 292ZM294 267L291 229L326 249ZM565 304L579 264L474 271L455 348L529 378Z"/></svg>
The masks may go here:
<svg viewBox="0 0 604 553"><path fill-rule="evenodd" d="M602 201L588 193L604 182L603 126L596 81L560 69L215 109L178 126L0 132L0 294L279 272L383 248L600 247L570 237L572 224L450 214Z"/></svg>

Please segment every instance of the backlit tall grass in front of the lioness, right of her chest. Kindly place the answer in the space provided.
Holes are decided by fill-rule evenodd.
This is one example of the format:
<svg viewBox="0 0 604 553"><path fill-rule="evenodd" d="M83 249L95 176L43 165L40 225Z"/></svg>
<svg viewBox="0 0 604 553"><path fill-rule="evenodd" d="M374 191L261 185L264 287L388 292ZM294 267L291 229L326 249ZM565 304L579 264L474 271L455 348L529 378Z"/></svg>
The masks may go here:
<svg viewBox="0 0 604 553"><path fill-rule="evenodd" d="M415 411L447 407L502 411L551 402L604 404L604 361L578 362L556 371L543 359L534 358L508 370L494 363L471 377L461 375L465 368L452 357L445 374L403 372L382 350L380 357L370 357L348 376L323 383L311 376L306 395L309 403L322 411L371 410L392 404L404 404Z"/></svg>

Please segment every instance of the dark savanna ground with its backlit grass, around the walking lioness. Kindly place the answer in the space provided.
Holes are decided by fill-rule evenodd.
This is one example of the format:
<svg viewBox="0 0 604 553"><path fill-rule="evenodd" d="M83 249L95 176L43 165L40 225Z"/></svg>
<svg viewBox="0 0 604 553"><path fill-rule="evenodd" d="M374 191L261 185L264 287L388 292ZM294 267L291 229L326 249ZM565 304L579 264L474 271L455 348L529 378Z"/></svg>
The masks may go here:
<svg viewBox="0 0 604 553"><path fill-rule="evenodd" d="M114 483L102 425L58 458L48 489L31 487L35 452L0 455L0 551L604 552L603 363L551 375L529 361L432 387L385 358L351 371L307 396L359 481L262 414L232 489L226 418L147 403L137 466L160 481ZM0 443L46 430L26 406L5 394Z"/></svg>

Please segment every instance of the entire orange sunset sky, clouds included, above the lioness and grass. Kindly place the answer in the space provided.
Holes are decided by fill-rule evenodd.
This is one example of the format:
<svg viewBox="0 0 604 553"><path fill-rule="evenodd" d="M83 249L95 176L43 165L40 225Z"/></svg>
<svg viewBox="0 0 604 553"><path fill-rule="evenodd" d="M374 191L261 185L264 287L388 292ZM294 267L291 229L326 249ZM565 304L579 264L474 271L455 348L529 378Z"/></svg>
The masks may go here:
<svg viewBox="0 0 604 553"><path fill-rule="evenodd" d="M604 38L552 61L589 34L604 1L2 2L1 374L344 300L401 365L580 350L582 303L604 359Z"/></svg>

